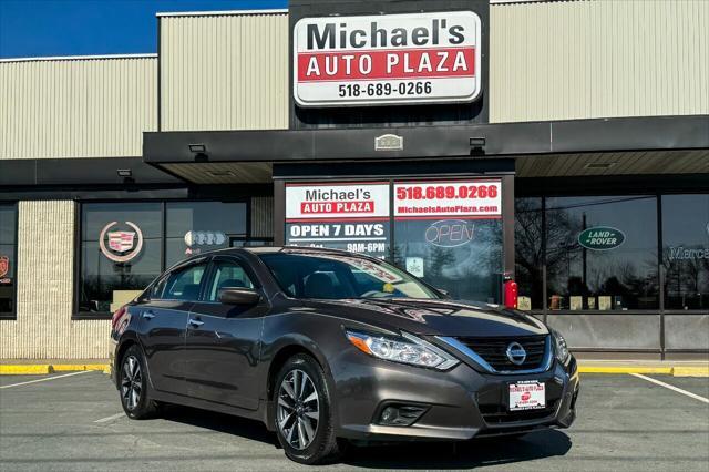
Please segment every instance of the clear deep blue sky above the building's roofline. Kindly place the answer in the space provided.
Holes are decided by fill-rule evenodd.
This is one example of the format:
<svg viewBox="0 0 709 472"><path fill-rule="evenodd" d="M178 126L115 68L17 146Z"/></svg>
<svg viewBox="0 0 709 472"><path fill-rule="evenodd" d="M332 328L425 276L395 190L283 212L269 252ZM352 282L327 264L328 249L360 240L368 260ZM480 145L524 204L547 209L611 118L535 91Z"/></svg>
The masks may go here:
<svg viewBox="0 0 709 472"><path fill-rule="evenodd" d="M161 11L286 8L287 0L0 0L0 58L156 52Z"/></svg>

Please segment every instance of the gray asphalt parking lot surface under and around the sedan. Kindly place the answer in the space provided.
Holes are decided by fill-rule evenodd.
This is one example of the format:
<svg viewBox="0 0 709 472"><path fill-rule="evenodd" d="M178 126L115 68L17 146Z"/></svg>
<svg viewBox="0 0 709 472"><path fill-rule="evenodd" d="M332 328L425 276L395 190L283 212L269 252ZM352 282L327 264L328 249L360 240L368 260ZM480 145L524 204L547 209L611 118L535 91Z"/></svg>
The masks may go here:
<svg viewBox="0 0 709 472"><path fill-rule="evenodd" d="M709 379L650 378L699 398L639 377L583 374L579 417L569 430L354 449L329 468L709 471L709 403L701 400L709 398ZM256 422L183 408L131 421L100 372L0 376L0 470L147 469L305 466L285 459Z"/></svg>

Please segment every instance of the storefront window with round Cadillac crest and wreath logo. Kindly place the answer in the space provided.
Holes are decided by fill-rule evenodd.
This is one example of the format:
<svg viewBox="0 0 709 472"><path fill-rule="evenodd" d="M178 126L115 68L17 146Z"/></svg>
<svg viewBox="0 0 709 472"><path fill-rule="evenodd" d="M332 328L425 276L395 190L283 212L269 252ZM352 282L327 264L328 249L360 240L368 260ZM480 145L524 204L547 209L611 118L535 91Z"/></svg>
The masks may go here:
<svg viewBox="0 0 709 472"><path fill-rule="evenodd" d="M111 312L162 271L160 203L84 204L80 312Z"/></svg>

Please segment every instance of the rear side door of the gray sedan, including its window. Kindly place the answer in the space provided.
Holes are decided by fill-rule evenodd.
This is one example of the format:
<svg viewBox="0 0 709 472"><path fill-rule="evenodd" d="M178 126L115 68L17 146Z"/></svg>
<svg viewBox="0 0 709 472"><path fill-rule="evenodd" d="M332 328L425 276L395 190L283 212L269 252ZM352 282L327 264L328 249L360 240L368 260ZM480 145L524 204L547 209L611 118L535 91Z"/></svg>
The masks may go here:
<svg viewBox="0 0 709 472"><path fill-rule="evenodd" d="M140 308L141 342L152 384L158 391L186 393L185 334L206 268L207 259L202 258L172 270Z"/></svg>

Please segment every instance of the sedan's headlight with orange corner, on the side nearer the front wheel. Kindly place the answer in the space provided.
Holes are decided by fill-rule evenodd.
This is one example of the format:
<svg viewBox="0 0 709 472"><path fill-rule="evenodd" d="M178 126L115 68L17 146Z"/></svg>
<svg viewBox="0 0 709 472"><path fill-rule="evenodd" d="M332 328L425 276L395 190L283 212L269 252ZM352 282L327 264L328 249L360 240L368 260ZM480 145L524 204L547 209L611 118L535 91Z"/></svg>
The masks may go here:
<svg viewBox="0 0 709 472"><path fill-rule="evenodd" d="M397 338L351 330L345 331L345 335L357 349L379 359L439 370L459 363L448 352L408 332Z"/></svg>

